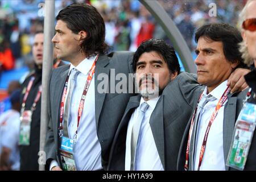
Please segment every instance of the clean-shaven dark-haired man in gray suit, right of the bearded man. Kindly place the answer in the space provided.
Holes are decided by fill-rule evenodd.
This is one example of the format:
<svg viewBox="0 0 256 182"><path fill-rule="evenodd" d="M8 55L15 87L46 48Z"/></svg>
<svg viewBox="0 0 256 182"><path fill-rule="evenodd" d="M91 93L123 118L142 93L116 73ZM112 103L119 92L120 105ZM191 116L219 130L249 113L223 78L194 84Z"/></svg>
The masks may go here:
<svg viewBox="0 0 256 182"><path fill-rule="evenodd" d="M246 91L230 93L227 80L243 65L241 41L240 32L229 24L206 24L196 32L197 81L206 87L185 129L178 170L229 169L226 159Z"/></svg>

